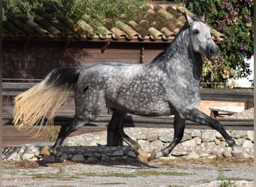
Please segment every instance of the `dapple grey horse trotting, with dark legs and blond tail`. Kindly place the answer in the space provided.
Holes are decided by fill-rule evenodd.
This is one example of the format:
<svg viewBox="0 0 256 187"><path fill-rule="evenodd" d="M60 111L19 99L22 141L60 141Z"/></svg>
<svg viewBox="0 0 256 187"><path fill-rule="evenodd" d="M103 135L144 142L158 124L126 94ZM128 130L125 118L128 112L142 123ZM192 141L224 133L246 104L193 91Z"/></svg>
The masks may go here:
<svg viewBox="0 0 256 187"><path fill-rule="evenodd" d="M141 162L147 154L124 132L124 120L129 114L163 116L174 114L174 139L167 147L151 154L150 159L168 156L183 138L186 120L216 129L230 146L235 141L218 120L198 111L199 82L203 66L202 55L211 60L219 54L210 28L201 19L186 15L186 25L173 42L150 64L96 64L87 69L52 70L46 79L16 96L14 123L19 126L47 124L70 91L74 91L76 114L71 123L61 126L58 139L51 149L57 154L64 138L80 126L95 120L103 108L112 108L109 132L118 133L138 153Z"/></svg>

